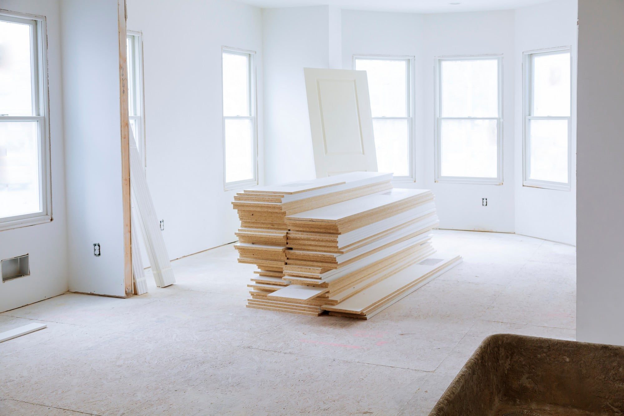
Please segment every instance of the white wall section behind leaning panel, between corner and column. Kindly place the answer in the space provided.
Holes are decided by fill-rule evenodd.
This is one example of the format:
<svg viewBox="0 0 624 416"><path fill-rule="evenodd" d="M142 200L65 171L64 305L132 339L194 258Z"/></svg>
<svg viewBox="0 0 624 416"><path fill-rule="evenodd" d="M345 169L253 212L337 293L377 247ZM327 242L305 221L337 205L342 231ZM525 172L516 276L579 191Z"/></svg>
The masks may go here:
<svg viewBox="0 0 624 416"><path fill-rule="evenodd" d="M329 12L328 6L262 11L266 183L316 177L303 68L330 65Z"/></svg>

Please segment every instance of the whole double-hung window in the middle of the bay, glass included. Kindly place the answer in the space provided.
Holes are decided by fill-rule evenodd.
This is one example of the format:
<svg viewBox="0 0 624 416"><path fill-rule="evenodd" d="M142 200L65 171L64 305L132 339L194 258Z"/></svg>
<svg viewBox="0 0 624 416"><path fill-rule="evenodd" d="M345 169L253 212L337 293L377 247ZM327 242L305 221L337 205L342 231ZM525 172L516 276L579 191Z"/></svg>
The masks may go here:
<svg viewBox="0 0 624 416"><path fill-rule="evenodd" d="M501 57L436 66L436 181L501 185Z"/></svg>

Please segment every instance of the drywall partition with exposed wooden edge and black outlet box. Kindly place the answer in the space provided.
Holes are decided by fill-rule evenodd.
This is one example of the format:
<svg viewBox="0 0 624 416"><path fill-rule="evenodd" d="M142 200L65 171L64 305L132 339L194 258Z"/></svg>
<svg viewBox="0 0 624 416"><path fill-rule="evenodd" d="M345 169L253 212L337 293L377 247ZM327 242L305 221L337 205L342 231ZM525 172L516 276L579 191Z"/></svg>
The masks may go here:
<svg viewBox="0 0 624 416"><path fill-rule="evenodd" d="M61 15L69 290L125 296L118 4L61 0Z"/></svg>

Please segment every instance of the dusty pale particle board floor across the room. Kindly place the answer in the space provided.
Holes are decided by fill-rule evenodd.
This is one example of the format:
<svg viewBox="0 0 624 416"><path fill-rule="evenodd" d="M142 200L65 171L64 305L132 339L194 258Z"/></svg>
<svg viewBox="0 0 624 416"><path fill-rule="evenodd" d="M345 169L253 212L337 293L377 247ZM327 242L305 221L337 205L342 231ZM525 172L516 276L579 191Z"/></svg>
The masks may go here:
<svg viewBox="0 0 624 416"><path fill-rule="evenodd" d="M463 263L374 319L245 307L231 245L130 299L64 294L0 314L1 415L427 415L489 334L575 338L575 249L434 231ZM374 386L374 388L373 388ZM332 392L332 394L327 394ZM80 413L78 413L80 412Z"/></svg>

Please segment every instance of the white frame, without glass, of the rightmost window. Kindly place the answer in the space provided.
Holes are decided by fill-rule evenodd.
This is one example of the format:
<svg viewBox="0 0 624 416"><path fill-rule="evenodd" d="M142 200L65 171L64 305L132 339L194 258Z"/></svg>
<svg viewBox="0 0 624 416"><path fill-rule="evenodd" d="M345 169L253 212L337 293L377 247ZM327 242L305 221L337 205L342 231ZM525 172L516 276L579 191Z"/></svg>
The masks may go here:
<svg viewBox="0 0 624 416"><path fill-rule="evenodd" d="M533 57L544 56L550 54L560 54L568 52L570 54L570 115L568 117L560 116L534 116L533 111ZM522 185L531 186L533 188L545 188L558 191L570 191L572 189L572 47L560 46L548 49L537 49L534 51L525 51L522 54L522 79L523 94L522 108L524 110L524 125L522 131ZM545 180L530 179L530 120L567 120L568 121L568 181L567 183L553 182Z"/></svg>

